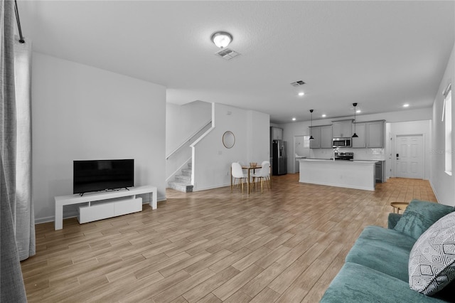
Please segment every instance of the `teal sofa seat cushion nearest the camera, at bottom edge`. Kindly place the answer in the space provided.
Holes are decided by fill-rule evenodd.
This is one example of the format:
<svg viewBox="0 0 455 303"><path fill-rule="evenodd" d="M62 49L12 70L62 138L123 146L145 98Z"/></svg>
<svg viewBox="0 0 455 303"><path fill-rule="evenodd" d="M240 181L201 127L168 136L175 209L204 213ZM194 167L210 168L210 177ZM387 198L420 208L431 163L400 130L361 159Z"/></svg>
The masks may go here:
<svg viewBox="0 0 455 303"><path fill-rule="evenodd" d="M390 277L378 270L346 262L332 280L320 302L425 303L445 301L414 292L410 289L408 282Z"/></svg>

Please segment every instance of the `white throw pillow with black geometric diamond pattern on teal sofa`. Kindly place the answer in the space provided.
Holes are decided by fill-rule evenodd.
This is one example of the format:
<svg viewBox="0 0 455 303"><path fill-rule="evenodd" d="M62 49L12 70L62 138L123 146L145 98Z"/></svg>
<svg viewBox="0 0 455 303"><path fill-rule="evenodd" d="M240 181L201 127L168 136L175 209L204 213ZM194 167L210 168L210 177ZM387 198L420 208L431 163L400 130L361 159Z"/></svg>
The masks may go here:
<svg viewBox="0 0 455 303"><path fill-rule="evenodd" d="M410 287L432 295L455 280L455 213L425 231L410 253Z"/></svg>

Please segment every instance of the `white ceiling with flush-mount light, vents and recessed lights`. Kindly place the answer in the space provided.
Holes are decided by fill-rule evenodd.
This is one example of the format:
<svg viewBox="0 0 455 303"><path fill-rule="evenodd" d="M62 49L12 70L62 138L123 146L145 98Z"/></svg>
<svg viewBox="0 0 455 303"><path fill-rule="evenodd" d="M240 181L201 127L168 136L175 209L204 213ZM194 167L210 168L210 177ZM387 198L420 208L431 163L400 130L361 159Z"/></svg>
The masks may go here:
<svg viewBox="0 0 455 303"><path fill-rule="evenodd" d="M432 107L454 1L18 1L33 50L168 87L167 100L258 110L271 122ZM234 37L214 55L215 31ZM306 82L306 95L289 83ZM125 100L128 102L128 100Z"/></svg>

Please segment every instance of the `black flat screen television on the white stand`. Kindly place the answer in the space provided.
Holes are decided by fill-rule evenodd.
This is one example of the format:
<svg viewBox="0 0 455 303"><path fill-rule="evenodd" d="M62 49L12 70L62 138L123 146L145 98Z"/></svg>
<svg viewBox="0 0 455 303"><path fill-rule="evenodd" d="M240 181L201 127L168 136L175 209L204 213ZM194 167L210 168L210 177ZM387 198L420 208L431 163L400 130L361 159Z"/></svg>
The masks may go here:
<svg viewBox="0 0 455 303"><path fill-rule="evenodd" d="M73 193L134 186L134 159L73 161Z"/></svg>

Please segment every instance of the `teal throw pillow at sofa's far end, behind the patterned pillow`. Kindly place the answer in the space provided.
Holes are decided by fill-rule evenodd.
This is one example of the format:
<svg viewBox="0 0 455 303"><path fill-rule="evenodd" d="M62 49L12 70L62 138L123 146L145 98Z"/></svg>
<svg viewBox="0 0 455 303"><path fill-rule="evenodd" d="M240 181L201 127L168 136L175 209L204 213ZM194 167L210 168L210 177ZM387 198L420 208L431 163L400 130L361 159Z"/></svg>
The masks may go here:
<svg viewBox="0 0 455 303"><path fill-rule="evenodd" d="M437 220L454 211L453 206L412 200L394 230L417 240Z"/></svg>

